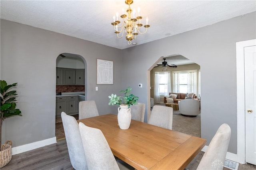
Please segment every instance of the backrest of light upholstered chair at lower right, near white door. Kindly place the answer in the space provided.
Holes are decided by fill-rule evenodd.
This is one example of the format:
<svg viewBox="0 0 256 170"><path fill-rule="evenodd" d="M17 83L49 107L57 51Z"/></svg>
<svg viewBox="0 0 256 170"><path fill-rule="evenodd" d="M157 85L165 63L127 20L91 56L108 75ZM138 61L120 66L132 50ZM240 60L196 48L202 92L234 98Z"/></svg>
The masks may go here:
<svg viewBox="0 0 256 170"><path fill-rule="evenodd" d="M231 129L228 124L222 124L210 142L197 170L222 170L228 151Z"/></svg>

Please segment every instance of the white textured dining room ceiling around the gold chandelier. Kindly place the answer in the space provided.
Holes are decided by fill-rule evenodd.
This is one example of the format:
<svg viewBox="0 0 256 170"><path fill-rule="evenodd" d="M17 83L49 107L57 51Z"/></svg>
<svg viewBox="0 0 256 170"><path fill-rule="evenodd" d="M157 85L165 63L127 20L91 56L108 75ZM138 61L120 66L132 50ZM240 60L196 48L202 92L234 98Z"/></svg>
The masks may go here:
<svg viewBox="0 0 256 170"><path fill-rule="evenodd" d="M113 16L127 9L124 0L1 0L1 15L15 21L70 35L118 49L132 47L114 33ZM211 25L256 11L256 1L173 1L134 0L131 8L141 9L142 23L147 16L151 26L138 35L138 45ZM143 27L144 28L144 27Z"/></svg>

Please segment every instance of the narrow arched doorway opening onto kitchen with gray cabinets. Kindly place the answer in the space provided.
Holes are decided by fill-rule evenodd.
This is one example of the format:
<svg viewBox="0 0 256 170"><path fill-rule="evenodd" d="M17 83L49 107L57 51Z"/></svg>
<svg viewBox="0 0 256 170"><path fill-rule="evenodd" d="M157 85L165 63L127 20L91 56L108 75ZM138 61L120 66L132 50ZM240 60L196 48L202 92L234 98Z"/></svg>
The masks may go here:
<svg viewBox="0 0 256 170"><path fill-rule="evenodd" d="M61 112L78 119L79 102L87 100L87 63L84 57L62 53L56 58L56 139L65 137Z"/></svg>

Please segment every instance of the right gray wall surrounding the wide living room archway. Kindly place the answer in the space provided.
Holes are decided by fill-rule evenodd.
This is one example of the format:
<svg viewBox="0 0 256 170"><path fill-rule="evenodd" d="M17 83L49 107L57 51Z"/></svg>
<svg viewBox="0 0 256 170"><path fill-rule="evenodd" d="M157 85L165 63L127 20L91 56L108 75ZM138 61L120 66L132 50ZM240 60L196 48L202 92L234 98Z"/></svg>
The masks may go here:
<svg viewBox="0 0 256 170"><path fill-rule="evenodd" d="M146 85L147 70L161 56L180 54L194 61L201 69L202 137L209 143L218 127L228 123L232 129L228 151L236 153L236 42L256 38L255 21L254 12L124 49L122 86L131 85L140 102L146 103L149 87L138 88L138 84Z"/></svg>

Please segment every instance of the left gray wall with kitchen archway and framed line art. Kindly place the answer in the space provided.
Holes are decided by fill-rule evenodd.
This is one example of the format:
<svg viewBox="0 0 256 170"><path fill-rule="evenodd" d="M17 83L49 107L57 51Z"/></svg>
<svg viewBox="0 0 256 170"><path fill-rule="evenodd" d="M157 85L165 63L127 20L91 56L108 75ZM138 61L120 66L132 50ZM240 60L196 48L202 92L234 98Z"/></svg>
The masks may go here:
<svg viewBox="0 0 256 170"><path fill-rule="evenodd" d="M121 86L122 51L105 45L1 20L1 80L18 82L17 108L22 117L5 119L2 143L12 147L55 137L56 58L61 53L84 57L87 63L87 99L100 114L117 113L108 96ZM96 59L114 61L114 85L96 86Z"/></svg>

